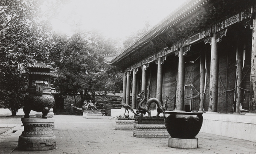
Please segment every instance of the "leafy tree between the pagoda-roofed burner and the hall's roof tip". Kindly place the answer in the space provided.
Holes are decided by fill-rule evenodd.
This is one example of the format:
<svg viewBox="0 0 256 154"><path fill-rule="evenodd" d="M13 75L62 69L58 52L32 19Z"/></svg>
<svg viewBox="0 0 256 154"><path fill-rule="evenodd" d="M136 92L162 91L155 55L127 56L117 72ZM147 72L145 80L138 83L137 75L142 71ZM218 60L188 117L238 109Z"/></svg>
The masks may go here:
<svg viewBox="0 0 256 154"><path fill-rule="evenodd" d="M103 54L116 52L113 40L106 40L97 32L78 32L69 39L65 36L55 39L62 40L55 44L56 49L52 52L61 55L53 65L59 74L55 79L56 90L64 95L79 93L81 107L84 100L90 98L89 92L90 99L94 99L96 91L119 89L113 86L117 71L103 62Z"/></svg>

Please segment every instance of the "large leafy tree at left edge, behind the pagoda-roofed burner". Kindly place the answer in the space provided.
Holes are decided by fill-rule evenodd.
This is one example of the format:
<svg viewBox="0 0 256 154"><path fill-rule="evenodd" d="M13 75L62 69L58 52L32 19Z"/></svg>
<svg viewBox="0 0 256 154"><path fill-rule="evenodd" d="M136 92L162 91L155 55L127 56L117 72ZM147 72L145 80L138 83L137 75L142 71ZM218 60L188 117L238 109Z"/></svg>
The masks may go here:
<svg viewBox="0 0 256 154"><path fill-rule="evenodd" d="M23 105L27 79L24 68L47 62L52 48L49 22L42 19L40 0L0 1L0 100L16 115Z"/></svg>

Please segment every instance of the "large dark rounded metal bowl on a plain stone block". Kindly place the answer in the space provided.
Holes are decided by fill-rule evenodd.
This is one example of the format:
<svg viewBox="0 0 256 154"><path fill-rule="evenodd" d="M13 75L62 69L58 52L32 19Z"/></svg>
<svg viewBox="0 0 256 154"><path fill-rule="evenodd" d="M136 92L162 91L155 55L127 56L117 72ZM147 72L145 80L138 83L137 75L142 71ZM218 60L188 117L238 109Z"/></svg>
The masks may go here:
<svg viewBox="0 0 256 154"><path fill-rule="evenodd" d="M166 111L164 122L173 138L194 139L203 124L203 112Z"/></svg>

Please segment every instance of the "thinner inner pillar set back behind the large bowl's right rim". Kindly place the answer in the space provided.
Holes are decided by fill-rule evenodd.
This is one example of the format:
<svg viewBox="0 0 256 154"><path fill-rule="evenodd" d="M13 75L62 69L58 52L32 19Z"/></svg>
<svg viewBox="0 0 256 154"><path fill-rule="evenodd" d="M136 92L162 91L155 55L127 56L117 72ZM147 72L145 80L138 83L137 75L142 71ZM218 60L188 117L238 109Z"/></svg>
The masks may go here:
<svg viewBox="0 0 256 154"><path fill-rule="evenodd" d="M199 103L199 111L203 111L204 83L205 83L205 52L202 52L201 57L200 57L200 103Z"/></svg>

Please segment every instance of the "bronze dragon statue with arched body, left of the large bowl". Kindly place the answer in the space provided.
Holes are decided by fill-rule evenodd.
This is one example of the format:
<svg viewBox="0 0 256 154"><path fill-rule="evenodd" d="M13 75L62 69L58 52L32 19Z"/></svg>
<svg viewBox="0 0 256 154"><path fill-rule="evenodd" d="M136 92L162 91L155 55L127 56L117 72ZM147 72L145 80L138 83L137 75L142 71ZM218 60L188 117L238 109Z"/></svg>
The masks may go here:
<svg viewBox="0 0 256 154"><path fill-rule="evenodd" d="M151 98L151 99L148 99L146 105L144 105L145 100L146 100L144 91L142 91L141 93L138 94L137 99L141 99L137 113L145 114L147 112L148 116L151 116L151 110L149 109L149 107L152 103L156 103L156 105L157 105L157 115L156 116L158 117L160 113L163 113L163 115L165 115L165 108L163 108L163 106L161 105L160 100L158 100L156 98ZM167 99L167 101L168 101L168 99Z"/></svg>

